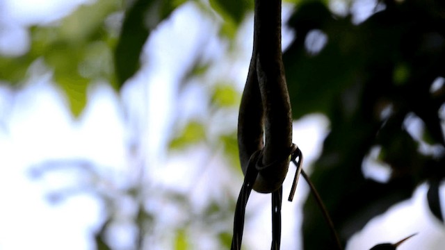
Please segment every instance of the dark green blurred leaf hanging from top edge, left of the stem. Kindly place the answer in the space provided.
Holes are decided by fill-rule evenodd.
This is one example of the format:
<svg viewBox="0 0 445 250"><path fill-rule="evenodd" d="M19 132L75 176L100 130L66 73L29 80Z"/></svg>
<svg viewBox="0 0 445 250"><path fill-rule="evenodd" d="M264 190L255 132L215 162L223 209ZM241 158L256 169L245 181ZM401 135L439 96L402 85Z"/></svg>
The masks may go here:
<svg viewBox="0 0 445 250"><path fill-rule="evenodd" d="M184 2L186 0L136 0L130 6L115 49L118 88L138 71L140 53L150 32Z"/></svg>

